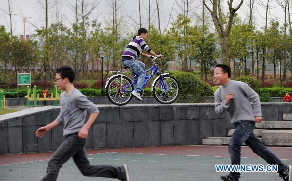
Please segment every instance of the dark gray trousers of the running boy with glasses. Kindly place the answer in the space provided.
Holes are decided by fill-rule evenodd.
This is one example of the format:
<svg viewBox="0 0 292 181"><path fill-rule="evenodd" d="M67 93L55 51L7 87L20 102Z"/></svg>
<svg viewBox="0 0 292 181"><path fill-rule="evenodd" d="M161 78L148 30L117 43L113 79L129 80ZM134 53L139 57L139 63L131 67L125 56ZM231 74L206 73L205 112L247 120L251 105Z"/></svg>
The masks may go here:
<svg viewBox="0 0 292 181"><path fill-rule="evenodd" d="M42 181L56 181L59 170L71 157L75 165L84 176L88 177L106 177L117 178L122 177L121 166L112 165L90 165L84 145L86 139L78 137L78 133L67 136L67 139L55 151L48 163L47 174Z"/></svg>

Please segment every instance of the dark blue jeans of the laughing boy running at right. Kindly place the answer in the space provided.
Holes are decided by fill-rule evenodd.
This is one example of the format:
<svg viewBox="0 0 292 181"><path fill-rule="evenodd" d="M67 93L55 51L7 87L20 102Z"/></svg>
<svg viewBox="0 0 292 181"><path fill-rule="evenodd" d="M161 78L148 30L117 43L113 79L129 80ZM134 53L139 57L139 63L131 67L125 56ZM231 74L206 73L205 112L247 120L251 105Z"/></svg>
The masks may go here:
<svg viewBox="0 0 292 181"><path fill-rule="evenodd" d="M270 165L278 165L278 172L284 172L288 166L284 165L274 153L264 146L254 133L255 121L239 121L235 123L235 132L229 143L229 154L232 165L240 165L240 148L243 143L252 148L253 152L264 159ZM255 163L256 164L256 163ZM239 172L230 172L232 178L239 178Z"/></svg>

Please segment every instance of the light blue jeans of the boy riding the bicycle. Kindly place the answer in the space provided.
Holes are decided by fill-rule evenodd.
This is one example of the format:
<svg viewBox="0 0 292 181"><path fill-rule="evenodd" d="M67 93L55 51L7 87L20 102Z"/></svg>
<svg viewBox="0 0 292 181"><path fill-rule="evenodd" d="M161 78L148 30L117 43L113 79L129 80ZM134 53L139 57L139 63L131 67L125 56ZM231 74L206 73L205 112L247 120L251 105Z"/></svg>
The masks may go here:
<svg viewBox="0 0 292 181"><path fill-rule="evenodd" d="M145 69L145 64L143 62L140 62L138 60L130 59L130 60L123 60L124 66L129 66L131 67L134 72L136 72L139 77L134 78L134 81L137 80L137 84L134 88L135 91L141 92L142 86L145 80L146 72L144 71Z"/></svg>

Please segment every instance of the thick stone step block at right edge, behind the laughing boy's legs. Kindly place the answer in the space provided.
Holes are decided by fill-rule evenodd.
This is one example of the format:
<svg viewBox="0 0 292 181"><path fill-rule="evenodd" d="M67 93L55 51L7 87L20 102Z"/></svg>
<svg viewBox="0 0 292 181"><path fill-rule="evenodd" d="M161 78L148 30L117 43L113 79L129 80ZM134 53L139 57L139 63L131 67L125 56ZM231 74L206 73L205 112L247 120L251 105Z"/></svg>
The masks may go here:
<svg viewBox="0 0 292 181"><path fill-rule="evenodd" d="M292 146L292 130L266 130L262 132L266 146Z"/></svg>

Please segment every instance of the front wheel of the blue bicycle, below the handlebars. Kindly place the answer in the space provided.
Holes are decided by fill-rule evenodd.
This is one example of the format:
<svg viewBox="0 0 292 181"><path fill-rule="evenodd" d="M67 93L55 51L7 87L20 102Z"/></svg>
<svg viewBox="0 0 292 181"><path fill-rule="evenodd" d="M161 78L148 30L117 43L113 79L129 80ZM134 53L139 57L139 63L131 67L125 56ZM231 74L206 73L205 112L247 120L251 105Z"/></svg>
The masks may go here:
<svg viewBox="0 0 292 181"><path fill-rule="evenodd" d="M166 87L166 89L163 86ZM162 78L157 79L154 82L153 96L162 104L170 104L178 99L180 94L180 86L178 81L171 75L164 75Z"/></svg>

